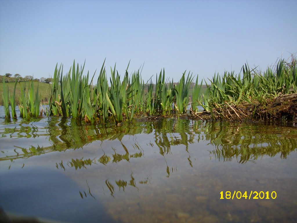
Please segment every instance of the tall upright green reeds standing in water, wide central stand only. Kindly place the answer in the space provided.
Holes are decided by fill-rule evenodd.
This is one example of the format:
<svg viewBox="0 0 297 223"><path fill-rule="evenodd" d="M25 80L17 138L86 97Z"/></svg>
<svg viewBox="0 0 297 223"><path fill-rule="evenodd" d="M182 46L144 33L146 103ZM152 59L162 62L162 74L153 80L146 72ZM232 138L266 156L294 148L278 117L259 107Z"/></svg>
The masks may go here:
<svg viewBox="0 0 297 223"><path fill-rule="evenodd" d="M60 66L58 69L56 65L51 87L51 115L84 119L86 124L95 123L97 118L101 118L103 122L112 118L116 125L121 125L124 119L132 121L135 114L170 114L176 96L173 93L173 81L165 81L164 69L156 77L155 92L151 81L145 94L140 69L129 76L128 64L121 80L116 65L114 68L111 67L109 87L104 63L105 61L94 88L87 84L89 76L83 76L84 66L79 70L77 65L75 71L74 62L72 69L63 77L63 67ZM188 76L187 81L182 82L179 87L183 88L183 84L186 84L189 90L190 80ZM186 93L185 90L181 91L181 94L185 95L184 104L188 102L188 90ZM182 112L186 111L184 107L185 105Z"/></svg>

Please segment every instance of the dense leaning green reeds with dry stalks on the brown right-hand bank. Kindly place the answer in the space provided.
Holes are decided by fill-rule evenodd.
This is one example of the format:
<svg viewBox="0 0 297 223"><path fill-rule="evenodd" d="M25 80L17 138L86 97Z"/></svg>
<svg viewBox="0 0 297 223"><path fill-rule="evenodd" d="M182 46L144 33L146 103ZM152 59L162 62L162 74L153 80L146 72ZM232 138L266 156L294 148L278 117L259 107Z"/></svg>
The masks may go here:
<svg viewBox="0 0 297 223"><path fill-rule="evenodd" d="M267 100L297 92L296 60L291 63L279 60L274 70L268 67L263 73L251 70L247 64L241 70L242 76L241 73L234 75L234 72L225 72L223 76L214 75L211 84L207 84L203 102L198 103L205 112L209 112L211 118L241 120L255 116L256 107L266 104ZM236 109L242 105L253 106L253 111L244 113L242 109ZM194 115L199 117L205 112L196 112Z"/></svg>

